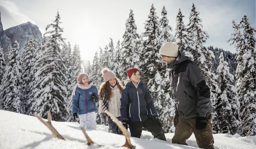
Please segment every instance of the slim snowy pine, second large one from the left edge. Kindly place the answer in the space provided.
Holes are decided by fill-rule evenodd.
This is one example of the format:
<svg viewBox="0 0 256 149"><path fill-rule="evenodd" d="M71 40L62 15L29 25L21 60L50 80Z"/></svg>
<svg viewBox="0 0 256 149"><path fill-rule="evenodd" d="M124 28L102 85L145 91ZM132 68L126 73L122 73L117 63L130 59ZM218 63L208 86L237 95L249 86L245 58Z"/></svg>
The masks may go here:
<svg viewBox="0 0 256 149"><path fill-rule="evenodd" d="M21 100L21 105L22 105L22 111L23 113L27 114L28 107L28 101L31 100L32 98L32 89L30 88L29 84L32 79L34 78L34 73L36 71L33 70L33 65L35 65L35 55L37 52L37 42L34 37L31 37L30 39L28 38L25 47L24 47L24 52L21 57L21 72L22 72L22 77L21 77L21 90L20 94L20 100Z"/></svg>

